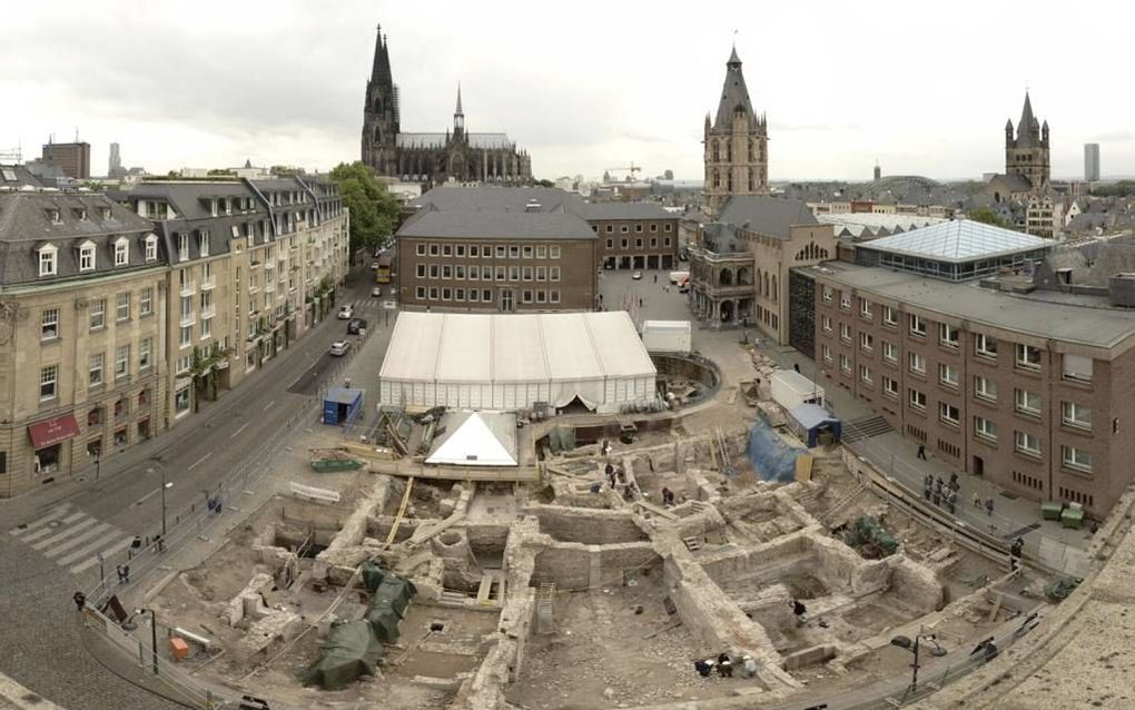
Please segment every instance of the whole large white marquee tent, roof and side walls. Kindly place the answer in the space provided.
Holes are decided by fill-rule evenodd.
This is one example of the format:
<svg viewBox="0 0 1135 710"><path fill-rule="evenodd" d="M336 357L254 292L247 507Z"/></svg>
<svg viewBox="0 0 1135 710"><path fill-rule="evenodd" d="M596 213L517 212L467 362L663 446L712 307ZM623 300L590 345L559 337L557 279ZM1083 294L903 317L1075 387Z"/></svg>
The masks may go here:
<svg viewBox="0 0 1135 710"><path fill-rule="evenodd" d="M384 404L613 414L654 401L656 373L625 311L402 312L378 381Z"/></svg>

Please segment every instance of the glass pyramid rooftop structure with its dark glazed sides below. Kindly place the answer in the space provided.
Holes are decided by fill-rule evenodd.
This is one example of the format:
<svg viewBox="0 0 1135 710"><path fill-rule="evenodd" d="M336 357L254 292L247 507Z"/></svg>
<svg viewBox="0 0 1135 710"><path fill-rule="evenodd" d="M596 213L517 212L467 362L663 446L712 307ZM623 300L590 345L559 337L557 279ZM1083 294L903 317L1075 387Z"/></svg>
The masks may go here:
<svg viewBox="0 0 1135 710"><path fill-rule="evenodd" d="M856 264L945 281L969 281L1044 258L1050 240L968 219L856 244Z"/></svg>

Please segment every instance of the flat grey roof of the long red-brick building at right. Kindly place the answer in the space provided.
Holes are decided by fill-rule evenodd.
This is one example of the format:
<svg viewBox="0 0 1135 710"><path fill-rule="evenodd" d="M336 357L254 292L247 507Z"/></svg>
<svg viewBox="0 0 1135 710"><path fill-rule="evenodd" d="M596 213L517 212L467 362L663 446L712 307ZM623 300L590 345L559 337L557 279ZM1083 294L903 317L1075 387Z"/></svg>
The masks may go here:
<svg viewBox="0 0 1135 710"><path fill-rule="evenodd" d="M801 269L818 278L972 324L1033 337L1113 348L1135 336L1135 317L1107 298L1034 291L1008 293L906 272L830 261Z"/></svg>

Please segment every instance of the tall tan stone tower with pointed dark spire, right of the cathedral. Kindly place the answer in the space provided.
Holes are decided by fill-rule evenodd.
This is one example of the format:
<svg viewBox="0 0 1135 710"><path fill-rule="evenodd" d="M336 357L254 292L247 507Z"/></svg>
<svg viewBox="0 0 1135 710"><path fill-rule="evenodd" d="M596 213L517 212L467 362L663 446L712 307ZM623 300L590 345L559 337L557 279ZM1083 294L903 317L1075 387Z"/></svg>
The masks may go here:
<svg viewBox="0 0 1135 710"><path fill-rule="evenodd" d="M768 193L768 124L757 116L737 48L725 62L717 116L705 122L706 210L716 216L730 195Z"/></svg>

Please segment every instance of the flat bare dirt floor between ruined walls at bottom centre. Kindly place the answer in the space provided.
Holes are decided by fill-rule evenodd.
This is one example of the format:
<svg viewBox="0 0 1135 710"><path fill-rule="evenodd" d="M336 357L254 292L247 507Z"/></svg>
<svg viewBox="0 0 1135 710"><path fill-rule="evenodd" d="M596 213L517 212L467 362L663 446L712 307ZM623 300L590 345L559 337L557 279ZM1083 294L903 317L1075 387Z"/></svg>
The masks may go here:
<svg viewBox="0 0 1135 710"><path fill-rule="evenodd" d="M530 638L521 677L505 691L508 700L533 709L583 710L721 698L754 683L698 676L693 661L721 649L703 648L673 625L658 575L639 582L557 596L557 630ZM645 638L651 633L657 635Z"/></svg>

